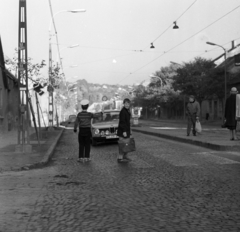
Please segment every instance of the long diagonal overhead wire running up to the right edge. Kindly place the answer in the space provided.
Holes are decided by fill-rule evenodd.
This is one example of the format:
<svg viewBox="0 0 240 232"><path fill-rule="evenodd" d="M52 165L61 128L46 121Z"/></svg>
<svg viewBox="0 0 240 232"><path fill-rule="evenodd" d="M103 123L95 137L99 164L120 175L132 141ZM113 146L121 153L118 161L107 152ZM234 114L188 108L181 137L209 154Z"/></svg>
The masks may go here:
<svg viewBox="0 0 240 232"><path fill-rule="evenodd" d="M212 26L214 23L218 22L219 20L221 20L222 18L226 17L227 15L229 15L230 13L232 13L233 11L235 11L236 9L238 9L240 7L237 6L235 7L233 10L229 11L228 13L226 13L225 15L221 16L220 18L218 18L217 20L215 20L214 22L210 23L208 26L204 27L203 29L201 29L200 31L198 31L197 33L191 35L190 37L188 37L187 39L183 40L181 43L175 45L174 47L170 48L168 51L166 51L165 53L161 54L160 56L158 56L157 58L153 59L152 61L148 62L147 64L143 65L142 67L138 68L137 70L133 71L132 73L130 73L128 76L126 76L125 78L123 78L122 80L120 80L120 82L122 82L123 80L125 80L127 77L129 77L131 74L141 70L142 68L146 67L147 65L151 64L152 62L154 62L155 60L159 59L160 57L164 56L166 53L169 53L170 51L172 51L174 48L182 45L183 43L185 43L186 41L188 41L189 39L191 39L192 37L194 37L195 35L199 34L200 32L202 32L203 30L207 29L208 27ZM120 83L119 82L119 83Z"/></svg>

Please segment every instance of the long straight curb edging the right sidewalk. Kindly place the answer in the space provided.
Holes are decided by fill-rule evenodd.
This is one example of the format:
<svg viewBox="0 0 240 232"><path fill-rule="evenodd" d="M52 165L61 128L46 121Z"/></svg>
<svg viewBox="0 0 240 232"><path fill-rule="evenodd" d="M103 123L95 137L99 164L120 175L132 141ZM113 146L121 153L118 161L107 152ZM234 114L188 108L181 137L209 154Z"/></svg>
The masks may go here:
<svg viewBox="0 0 240 232"><path fill-rule="evenodd" d="M132 128L132 130L135 131L135 132L142 133L142 134L161 137L161 138L164 138L164 139L175 140L175 141L178 141L178 142L188 143L188 144L191 144L191 145L205 147L205 148L209 148L209 149L217 150L217 151L239 151L240 150L240 146L222 146L222 145L218 145L218 144L196 141L196 140L181 138L181 137L172 136L172 135L155 133L155 132L151 132L151 131L143 131L143 130L139 130L139 129L136 129L136 128Z"/></svg>

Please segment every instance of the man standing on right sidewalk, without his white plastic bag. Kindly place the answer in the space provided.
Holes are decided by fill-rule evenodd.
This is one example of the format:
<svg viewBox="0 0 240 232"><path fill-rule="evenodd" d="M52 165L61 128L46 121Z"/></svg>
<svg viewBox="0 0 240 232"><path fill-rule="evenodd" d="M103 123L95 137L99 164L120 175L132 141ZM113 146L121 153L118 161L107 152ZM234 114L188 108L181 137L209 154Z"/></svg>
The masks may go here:
<svg viewBox="0 0 240 232"><path fill-rule="evenodd" d="M186 114L188 119L187 124L187 136L190 135L191 127L192 127L192 133L194 136L196 136L196 121L199 120L200 115L200 105L196 101L195 97L193 95L189 96L189 102L186 107Z"/></svg>

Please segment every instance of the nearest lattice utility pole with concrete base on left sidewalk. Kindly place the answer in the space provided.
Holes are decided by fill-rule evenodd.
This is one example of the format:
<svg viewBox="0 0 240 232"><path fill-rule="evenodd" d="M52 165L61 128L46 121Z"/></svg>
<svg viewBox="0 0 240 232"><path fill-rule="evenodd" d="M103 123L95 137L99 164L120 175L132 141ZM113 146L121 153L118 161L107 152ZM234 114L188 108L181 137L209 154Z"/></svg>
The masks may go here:
<svg viewBox="0 0 240 232"><path fill-rule="evenodd" d="M29 138L27 3L19 0L18 20L18 144L16 152L31 152Z"/></svg>

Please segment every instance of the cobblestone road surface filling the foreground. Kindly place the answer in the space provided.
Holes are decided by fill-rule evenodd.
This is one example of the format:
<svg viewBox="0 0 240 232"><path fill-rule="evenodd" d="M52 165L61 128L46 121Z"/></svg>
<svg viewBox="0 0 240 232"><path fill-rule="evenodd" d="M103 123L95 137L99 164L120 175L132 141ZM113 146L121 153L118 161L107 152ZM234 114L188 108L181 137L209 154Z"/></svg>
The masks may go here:
<svg viewBox="0 0 240 232"><path fill-rule="evenodd" d="M132 162L117 144L77 163L66 130L53 163L0 175L0 231L240 231L240 155L135 134Z"/></svg>

